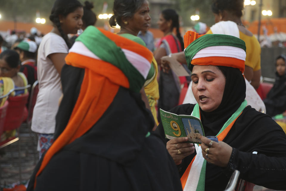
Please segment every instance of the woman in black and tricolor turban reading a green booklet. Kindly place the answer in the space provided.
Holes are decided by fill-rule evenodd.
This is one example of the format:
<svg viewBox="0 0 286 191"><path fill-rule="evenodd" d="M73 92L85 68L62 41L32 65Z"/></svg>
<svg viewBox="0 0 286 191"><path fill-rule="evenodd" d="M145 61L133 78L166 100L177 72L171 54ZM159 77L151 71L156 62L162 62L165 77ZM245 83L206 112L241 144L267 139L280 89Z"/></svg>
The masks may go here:
<svg viewBox="0 0 286 191"><path fill-rule="evenodd" d="M169 112L200 118L205 135L217 136L219 142L201 137L202 144L194 145L186 143L186 137L165 139L183 190L224 190L234 170L248 182L285 190L286 136L269 115L247 106L244 41L220 34L198 37L194 32L185 36L185 56L198 103ZM156 131L165 138L161 124Z"/></svg>

